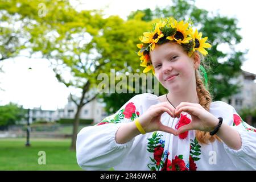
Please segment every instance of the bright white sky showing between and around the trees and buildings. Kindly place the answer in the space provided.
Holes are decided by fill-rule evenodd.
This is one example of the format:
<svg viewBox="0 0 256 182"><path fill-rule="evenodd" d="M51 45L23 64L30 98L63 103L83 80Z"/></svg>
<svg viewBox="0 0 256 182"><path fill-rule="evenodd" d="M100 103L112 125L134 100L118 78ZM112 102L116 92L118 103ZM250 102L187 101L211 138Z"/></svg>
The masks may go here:
<svg viewBox="0 0 256 182"><path fill-rule="evenodd" d="M171 1L167 0L84 0L82 5L78 5L76 0L70 2L77 10L104 9L106 16L119 15L123 19L137 9L155 9L156 5L171 5ZM199 8L238 19L237 26L241 28L243 40L237 45L237 49L248 49L242 69L256 74L256 46L253 46L256 40L256 26L253 22L256 11L253 3L251 0L196 0L196 6ZM72 90L57 81L47 60L19 56L1 61L0 67L3 70L3 73L0 73L0 105L14 102L24 108L42 107L43 110L56 110L67 104L69 92Z"/></svg>

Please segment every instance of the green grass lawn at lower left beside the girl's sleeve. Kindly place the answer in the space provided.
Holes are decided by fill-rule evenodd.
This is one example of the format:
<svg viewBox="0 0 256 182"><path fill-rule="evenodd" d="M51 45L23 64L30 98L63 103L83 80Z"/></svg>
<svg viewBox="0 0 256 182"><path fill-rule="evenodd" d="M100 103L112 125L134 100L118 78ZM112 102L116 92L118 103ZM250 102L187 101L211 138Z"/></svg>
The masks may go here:
<svg viewBox="0 0 256 182"><path fill-rule="evenodd" d="M70 151L71 139L0 139L0 170L82 170L76 152ZM39 151L46 152L46 164L38 164Z"/></svg>

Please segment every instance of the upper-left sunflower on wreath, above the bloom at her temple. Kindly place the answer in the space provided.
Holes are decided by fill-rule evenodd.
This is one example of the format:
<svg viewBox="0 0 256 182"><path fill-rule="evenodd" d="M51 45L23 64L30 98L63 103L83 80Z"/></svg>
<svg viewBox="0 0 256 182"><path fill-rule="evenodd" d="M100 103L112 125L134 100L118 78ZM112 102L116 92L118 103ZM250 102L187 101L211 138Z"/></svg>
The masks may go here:
<svg viewBox="0 0 256 182"><path fill-rule="evenodd" d="M163 27L165 24L166 22L162 21L156 23L154 32L144 32L144 36L140 38L141 42L150 44L151 51L155 48L155 44L158 43L158 40L164 36L162 31L160 31L160 27Z"/></svg>

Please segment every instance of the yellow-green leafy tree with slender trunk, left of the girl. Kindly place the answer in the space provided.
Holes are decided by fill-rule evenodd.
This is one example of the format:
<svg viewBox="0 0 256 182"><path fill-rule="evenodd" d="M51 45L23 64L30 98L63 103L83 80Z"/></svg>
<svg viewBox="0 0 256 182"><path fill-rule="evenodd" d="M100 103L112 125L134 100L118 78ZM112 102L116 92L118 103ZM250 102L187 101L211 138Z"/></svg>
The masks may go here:
<svg viewBox="0 0 256 182"><path fill-rule="evenodd" d="M47 13L38 17L42 2ZM80 111L97 97L98 75L110 75L111 68L122 73L138 69L134 67L135 45L148 24L135 19L126 22L118 16L104 19L100 11L77 12L68 1L19 1L19 6L11 1L5 8L30 22L26 30L31 35L31 53L40 52L51 61L56 78L80 92L77 99L71 95L77 105L71 145L75 149ZM64 71L69 77L63 76Z"/></svg>

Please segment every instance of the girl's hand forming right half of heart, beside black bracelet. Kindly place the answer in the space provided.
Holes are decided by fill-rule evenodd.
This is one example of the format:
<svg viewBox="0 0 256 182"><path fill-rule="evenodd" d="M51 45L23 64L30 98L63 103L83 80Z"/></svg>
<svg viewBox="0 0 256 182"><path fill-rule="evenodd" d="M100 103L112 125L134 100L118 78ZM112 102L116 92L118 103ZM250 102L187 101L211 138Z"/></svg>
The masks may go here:
<svg viewBox="0 0 256 182"><path fill-rule="evenodd" d="M181 126L176 131L177 134L188 130L213 131L218 125L218 118L210 114L200 104L181 102L175 109L175 117L179 117L182 111L191 115L191 122L188 125Z"/></svg>

